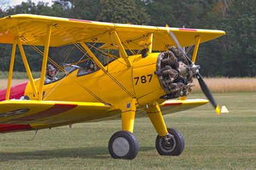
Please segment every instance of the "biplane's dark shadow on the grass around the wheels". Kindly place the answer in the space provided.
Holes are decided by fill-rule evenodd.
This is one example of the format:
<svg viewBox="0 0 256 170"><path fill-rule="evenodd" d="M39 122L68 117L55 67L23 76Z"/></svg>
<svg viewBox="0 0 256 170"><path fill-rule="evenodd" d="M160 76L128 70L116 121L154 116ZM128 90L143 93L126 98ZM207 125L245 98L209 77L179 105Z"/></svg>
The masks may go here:
<svg viewBox="0 0 256 170"><path fill-rule="evenodd" d="M144 146L139 148L139 152L152 151L156 148ZM55 150L27 151L20 153L2 153L0 152L0 162L15 160L32 160L32 159L111 159L107 147L83 147L83 148L60 148Z"/></svg>

